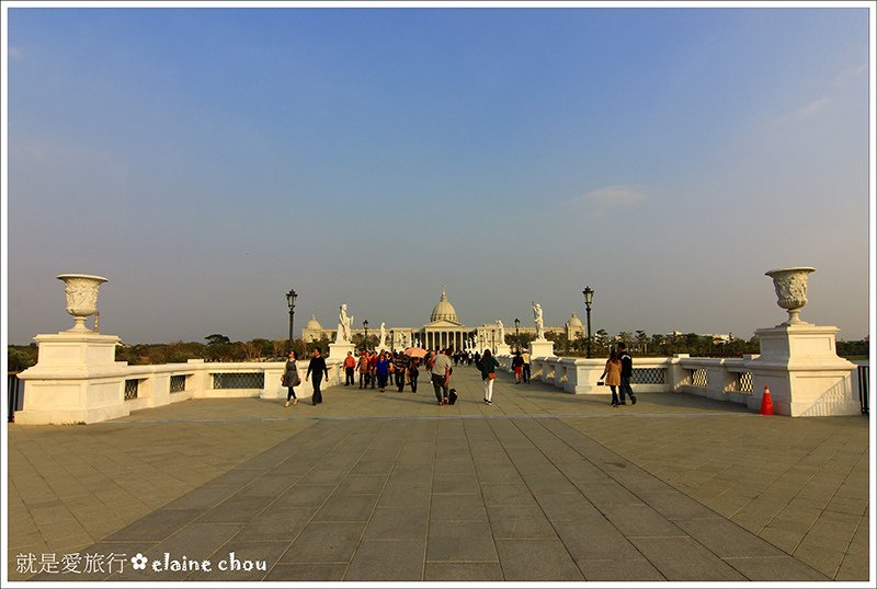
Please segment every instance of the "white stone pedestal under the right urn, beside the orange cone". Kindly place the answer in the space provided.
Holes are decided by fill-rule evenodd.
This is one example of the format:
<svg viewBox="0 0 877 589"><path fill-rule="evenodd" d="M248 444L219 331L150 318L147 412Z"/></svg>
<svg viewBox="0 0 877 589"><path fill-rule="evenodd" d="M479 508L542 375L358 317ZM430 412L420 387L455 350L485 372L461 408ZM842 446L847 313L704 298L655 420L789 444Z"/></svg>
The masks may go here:
<svg viewBox="0 0 877 589"><path fill-rule="evenodd" d="M839 331L804 322L755 331L761 355L747 362L753 392L749 408L761 408L764 386L770 386L779 415L861 415L853 383L856 366L838 356Z"/></svg>

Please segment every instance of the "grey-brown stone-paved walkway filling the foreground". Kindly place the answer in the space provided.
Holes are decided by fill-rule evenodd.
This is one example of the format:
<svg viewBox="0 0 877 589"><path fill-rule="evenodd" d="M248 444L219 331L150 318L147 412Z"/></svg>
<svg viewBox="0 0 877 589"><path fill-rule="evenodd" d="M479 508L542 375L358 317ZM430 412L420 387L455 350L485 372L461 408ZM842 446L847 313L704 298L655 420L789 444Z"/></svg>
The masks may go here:
<svg viewBox="0 0 877 589"><path fill-rule="evenodd" d="M455 406L335 386L324 403L185 401L9 426L12 579L868 580L868 420L684 394L570 395L502 374ZM218 570L228 558L265 570ZM125 554L113 573L22 555ZM205 571L134 570L144 554Z"/></svg>

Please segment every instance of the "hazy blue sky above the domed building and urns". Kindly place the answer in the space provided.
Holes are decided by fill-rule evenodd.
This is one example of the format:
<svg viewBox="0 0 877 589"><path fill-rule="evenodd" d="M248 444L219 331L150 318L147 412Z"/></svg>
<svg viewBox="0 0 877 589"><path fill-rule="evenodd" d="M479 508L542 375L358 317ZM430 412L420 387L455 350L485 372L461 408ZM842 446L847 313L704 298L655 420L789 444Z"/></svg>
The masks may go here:
<svg viewBox="0 0 877 589"><path fill-rule="evenodd" d="M864 7L864 4L862 4ZM8 333L868 333L865 8L10 8Z"/></svg>

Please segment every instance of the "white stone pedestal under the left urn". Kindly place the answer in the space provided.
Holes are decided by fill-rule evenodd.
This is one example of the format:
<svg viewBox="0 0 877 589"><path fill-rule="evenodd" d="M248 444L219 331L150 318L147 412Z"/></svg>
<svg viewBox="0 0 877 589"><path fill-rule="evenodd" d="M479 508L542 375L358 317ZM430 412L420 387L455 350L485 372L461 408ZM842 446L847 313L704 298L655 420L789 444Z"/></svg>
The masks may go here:
<svg viewBox="0 0 877 589"><path fill-rule="evenodd" d="M93 424L130 414L127 362L115 361L115 335L67 331L37 335L39 359L19 374L24 409L16 424Z"/></svg>

